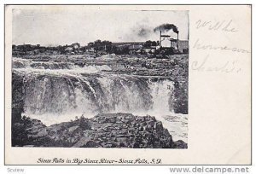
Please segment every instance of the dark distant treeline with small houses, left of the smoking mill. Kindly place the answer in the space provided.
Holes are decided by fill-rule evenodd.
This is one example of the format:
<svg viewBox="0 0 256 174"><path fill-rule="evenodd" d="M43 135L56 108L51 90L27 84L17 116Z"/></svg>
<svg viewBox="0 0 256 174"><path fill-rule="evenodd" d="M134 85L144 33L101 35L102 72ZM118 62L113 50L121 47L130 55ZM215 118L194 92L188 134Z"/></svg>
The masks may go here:
<svg viewBox="0 0 256 174"><path fill-rule="evenodd" d="M96 40L86 46L78 43L59 46L41 46L40 44L12 45L13 55L84 55L84 54L154 54L159 46L159 41L112 43L110 41ZM185 48L185 49L188 49Z"/></svg>

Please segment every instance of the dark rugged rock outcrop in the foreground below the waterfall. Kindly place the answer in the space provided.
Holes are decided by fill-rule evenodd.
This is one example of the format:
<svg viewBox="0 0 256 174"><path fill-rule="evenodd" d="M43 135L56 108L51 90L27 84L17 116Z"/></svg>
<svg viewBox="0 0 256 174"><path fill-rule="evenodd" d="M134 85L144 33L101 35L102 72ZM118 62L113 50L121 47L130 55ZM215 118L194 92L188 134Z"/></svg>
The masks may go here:
<svg viewBox="0 0 256 174"><path fill-rule="evenodd" d="M23 130L19 130L23 127ZM151 116L131 113L98 114L92 119L46 127L37 119L23 118L13 127L13 146L73 148L187 148L183 141L172 142L162 123ZM22 137L23 142L21 139Z"/></svg>

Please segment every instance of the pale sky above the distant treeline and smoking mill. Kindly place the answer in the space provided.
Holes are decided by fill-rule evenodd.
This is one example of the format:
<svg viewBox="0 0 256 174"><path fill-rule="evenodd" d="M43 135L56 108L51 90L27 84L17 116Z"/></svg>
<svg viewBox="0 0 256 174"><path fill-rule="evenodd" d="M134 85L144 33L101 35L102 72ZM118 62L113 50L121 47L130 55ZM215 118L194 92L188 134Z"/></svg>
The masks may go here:
<svg viewBox="0 0 256 174"><path fill-rule="evenodd" d="M179 39L189 38L188 11L138 11L117 9L13 9L13 44L86 45L96 39L111 42L159 40L153 32L161 24L174 24ZM169 31L166 34L177 38Z"/></svg>

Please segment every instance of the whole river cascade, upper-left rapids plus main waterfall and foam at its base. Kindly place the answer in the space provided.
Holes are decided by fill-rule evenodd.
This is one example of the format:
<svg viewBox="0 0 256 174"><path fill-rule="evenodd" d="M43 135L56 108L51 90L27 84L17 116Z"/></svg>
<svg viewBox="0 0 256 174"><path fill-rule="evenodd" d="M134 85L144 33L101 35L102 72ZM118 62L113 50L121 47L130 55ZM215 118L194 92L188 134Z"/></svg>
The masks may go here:
<svg viewBox="0 0 256 174"><path fill-rule="evenodd" d="M133 113L153 115L170 127L173 124L166 123L163 116L177 116L172 108L174 83L167 78L101 73L109 70L108 66L75 67L62 62L34 65L15 59L13 73L23 76L24 114L45 125L81 115L90 118L97 113ZM186 142L186 138L178 139Z"/></svg>

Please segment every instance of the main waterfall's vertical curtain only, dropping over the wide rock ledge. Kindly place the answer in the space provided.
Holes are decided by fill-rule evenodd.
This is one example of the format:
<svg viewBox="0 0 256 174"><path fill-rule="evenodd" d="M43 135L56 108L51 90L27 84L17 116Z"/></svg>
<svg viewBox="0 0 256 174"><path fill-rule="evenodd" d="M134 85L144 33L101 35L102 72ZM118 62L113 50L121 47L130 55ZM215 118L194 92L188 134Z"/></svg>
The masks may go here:
<svg viewBox="0 0 256 174"><path fill-rule="evenodd" d="M172 81L169 80L152 82L146 78L110 75L106 78L33 74L26 76L24 84L28 115L170 113Z"/></svg>

